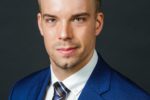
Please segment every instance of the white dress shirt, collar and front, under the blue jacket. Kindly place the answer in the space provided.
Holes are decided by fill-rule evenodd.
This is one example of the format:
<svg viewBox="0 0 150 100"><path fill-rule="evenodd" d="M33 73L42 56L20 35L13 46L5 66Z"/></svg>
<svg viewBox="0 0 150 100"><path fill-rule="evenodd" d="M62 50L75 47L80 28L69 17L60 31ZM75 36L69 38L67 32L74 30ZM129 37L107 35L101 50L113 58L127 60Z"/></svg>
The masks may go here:
<svg viewBox="0 0 150 100"><path fill-rule="evenodd" d="M71 91L67 100L78 100L82 89L84 88L87 80L89 79L92 71L94 70L98 61L98 55L96 50L94 50L94 54L90 61L78 72L74 73L73 75L69 76L65 80L63 80L63 84ZM51 85L48 87L45 100L52 100L54 95L54 87L53 84L59 81L55 76L53 69L51 67Z"/></svg>

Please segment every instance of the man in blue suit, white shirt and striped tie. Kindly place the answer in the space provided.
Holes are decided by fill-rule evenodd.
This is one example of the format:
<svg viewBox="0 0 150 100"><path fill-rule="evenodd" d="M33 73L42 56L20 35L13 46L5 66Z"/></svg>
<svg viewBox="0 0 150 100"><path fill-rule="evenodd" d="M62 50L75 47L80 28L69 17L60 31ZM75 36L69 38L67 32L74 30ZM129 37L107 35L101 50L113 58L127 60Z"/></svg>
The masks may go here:
<svg viewBox="0 0 150 100"><path fill-rule="evenodd" d="M50 68L17 82L9 100L150 100L95 50L99 0L39 0L38 26Z"/></svg>

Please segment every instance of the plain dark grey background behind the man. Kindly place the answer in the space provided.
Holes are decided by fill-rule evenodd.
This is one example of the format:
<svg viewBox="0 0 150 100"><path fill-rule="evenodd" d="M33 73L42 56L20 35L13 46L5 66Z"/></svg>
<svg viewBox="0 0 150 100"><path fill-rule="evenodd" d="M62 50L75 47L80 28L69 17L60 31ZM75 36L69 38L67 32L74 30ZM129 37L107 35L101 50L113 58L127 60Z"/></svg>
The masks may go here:
<svg viewBox="0 0 150 100"><path fill-rule="evenodd" d="M97 50L150 93L150 0L103 0ZM0 1L0 100L16 80L49 65L36 23L36 0Z"/></svg>

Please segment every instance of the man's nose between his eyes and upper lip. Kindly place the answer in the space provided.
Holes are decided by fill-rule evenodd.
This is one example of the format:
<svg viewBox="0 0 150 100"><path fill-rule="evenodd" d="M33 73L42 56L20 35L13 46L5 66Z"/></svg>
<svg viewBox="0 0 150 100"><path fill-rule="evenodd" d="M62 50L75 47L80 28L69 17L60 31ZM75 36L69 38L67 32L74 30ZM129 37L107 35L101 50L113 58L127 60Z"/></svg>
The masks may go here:
<svg viewBox="0 0 150 100"><path fill-rule="evenodd" d="M72 38L71 26L67 22L62 22L58 38L60 40L70 40Z"/></svg>

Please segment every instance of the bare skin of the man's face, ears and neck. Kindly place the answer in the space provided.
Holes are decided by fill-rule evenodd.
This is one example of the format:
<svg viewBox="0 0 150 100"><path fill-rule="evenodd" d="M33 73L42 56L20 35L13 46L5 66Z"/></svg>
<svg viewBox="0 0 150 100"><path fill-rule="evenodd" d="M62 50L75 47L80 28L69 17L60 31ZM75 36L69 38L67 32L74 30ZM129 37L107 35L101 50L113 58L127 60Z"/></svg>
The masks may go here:
<svg viewBox="0 0 150 100"><path fill-rule="evenodd" d="M62 81L91 59L103 13L94 0L40 0L38 26L56 77Z"/></svg>

